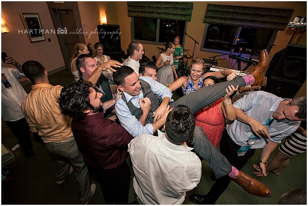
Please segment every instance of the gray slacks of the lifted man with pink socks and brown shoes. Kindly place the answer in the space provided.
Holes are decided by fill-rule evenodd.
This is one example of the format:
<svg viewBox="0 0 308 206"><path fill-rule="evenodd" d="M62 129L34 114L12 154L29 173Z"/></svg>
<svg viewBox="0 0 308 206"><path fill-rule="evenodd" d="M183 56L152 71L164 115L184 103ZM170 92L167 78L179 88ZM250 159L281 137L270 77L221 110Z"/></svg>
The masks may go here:
<svg viewBox="0 0 308 206"><path fill-rule="evenodd" d="M226 95L226 88L233 84L234 87L244 87L246 85L242 77L236 77L231 81L221 82L209 87L201 87L195 92L181 97L175 102L171 102L171 107L177 105L185 105L189 107L195 114L197 111ZM209 141L200 127L196 127L192 138L190 139L195 151L206 161L210 163L210 167L216 178L225 176L232 171L232 166L228 160L220 153L220 151Z"/></svg>

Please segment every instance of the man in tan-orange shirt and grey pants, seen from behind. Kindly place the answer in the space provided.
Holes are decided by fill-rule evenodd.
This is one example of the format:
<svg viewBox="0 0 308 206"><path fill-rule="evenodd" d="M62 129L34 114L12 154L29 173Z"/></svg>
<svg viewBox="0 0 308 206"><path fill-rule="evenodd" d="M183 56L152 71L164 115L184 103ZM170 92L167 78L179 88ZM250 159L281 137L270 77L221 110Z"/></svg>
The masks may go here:
<svg viewBox="0 0 308 206"><path fill-rule="evenodd" d="M101 68L107 69L109 65L111 64L104 63L95 72L102 72ZM22 71L25 78L34 84L21 105L30 130L38 132L45 142L46 149L58 156L58 184L64 181L73 168L76 170L80 204L87 204L95 192L96 185L91 184L87 166L75 142L71 131L71 118L61 114L58 99L63 87L49 84L47 70L37 61L25 62ZM89 80L91 81L91 78Z"/></svg>

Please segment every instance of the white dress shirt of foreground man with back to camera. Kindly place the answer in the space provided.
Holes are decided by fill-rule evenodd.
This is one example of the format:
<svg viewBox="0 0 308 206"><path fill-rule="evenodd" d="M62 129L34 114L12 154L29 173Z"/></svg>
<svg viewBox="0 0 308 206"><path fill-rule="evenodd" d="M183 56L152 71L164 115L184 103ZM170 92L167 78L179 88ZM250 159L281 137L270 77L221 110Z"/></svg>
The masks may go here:
<svg viewBox="0 0 308 206"><path fill-rule="evenodd" d="M172 144L164 134L144 134L128 144L140 204L182 204L200 181L201 161L193 148Z"/></svg>

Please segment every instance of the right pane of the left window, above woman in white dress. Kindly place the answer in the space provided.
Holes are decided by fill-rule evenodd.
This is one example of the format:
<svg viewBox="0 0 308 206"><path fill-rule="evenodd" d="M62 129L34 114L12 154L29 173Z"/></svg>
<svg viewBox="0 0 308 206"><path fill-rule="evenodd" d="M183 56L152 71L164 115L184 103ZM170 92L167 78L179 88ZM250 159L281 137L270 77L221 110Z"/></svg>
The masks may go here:
<svg viewBox="0 0 308 206"><path fill-rule="evenodd" d="M184 21L160 20L158 42L173 42L174 37L179 36L182 44L185 24Z"/></svg>

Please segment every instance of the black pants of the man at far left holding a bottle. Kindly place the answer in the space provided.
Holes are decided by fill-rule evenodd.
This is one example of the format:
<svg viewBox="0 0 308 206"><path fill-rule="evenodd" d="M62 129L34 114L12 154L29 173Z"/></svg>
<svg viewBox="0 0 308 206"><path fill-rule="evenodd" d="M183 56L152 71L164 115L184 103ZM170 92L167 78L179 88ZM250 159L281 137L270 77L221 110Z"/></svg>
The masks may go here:
<svg viewBox="0 0 308 206"><path fill-rule="evenodd" d="M32 148L29 126L25 118L18 119L17 121L5 121L5 123L18 139L23 150Z"/></svg>

